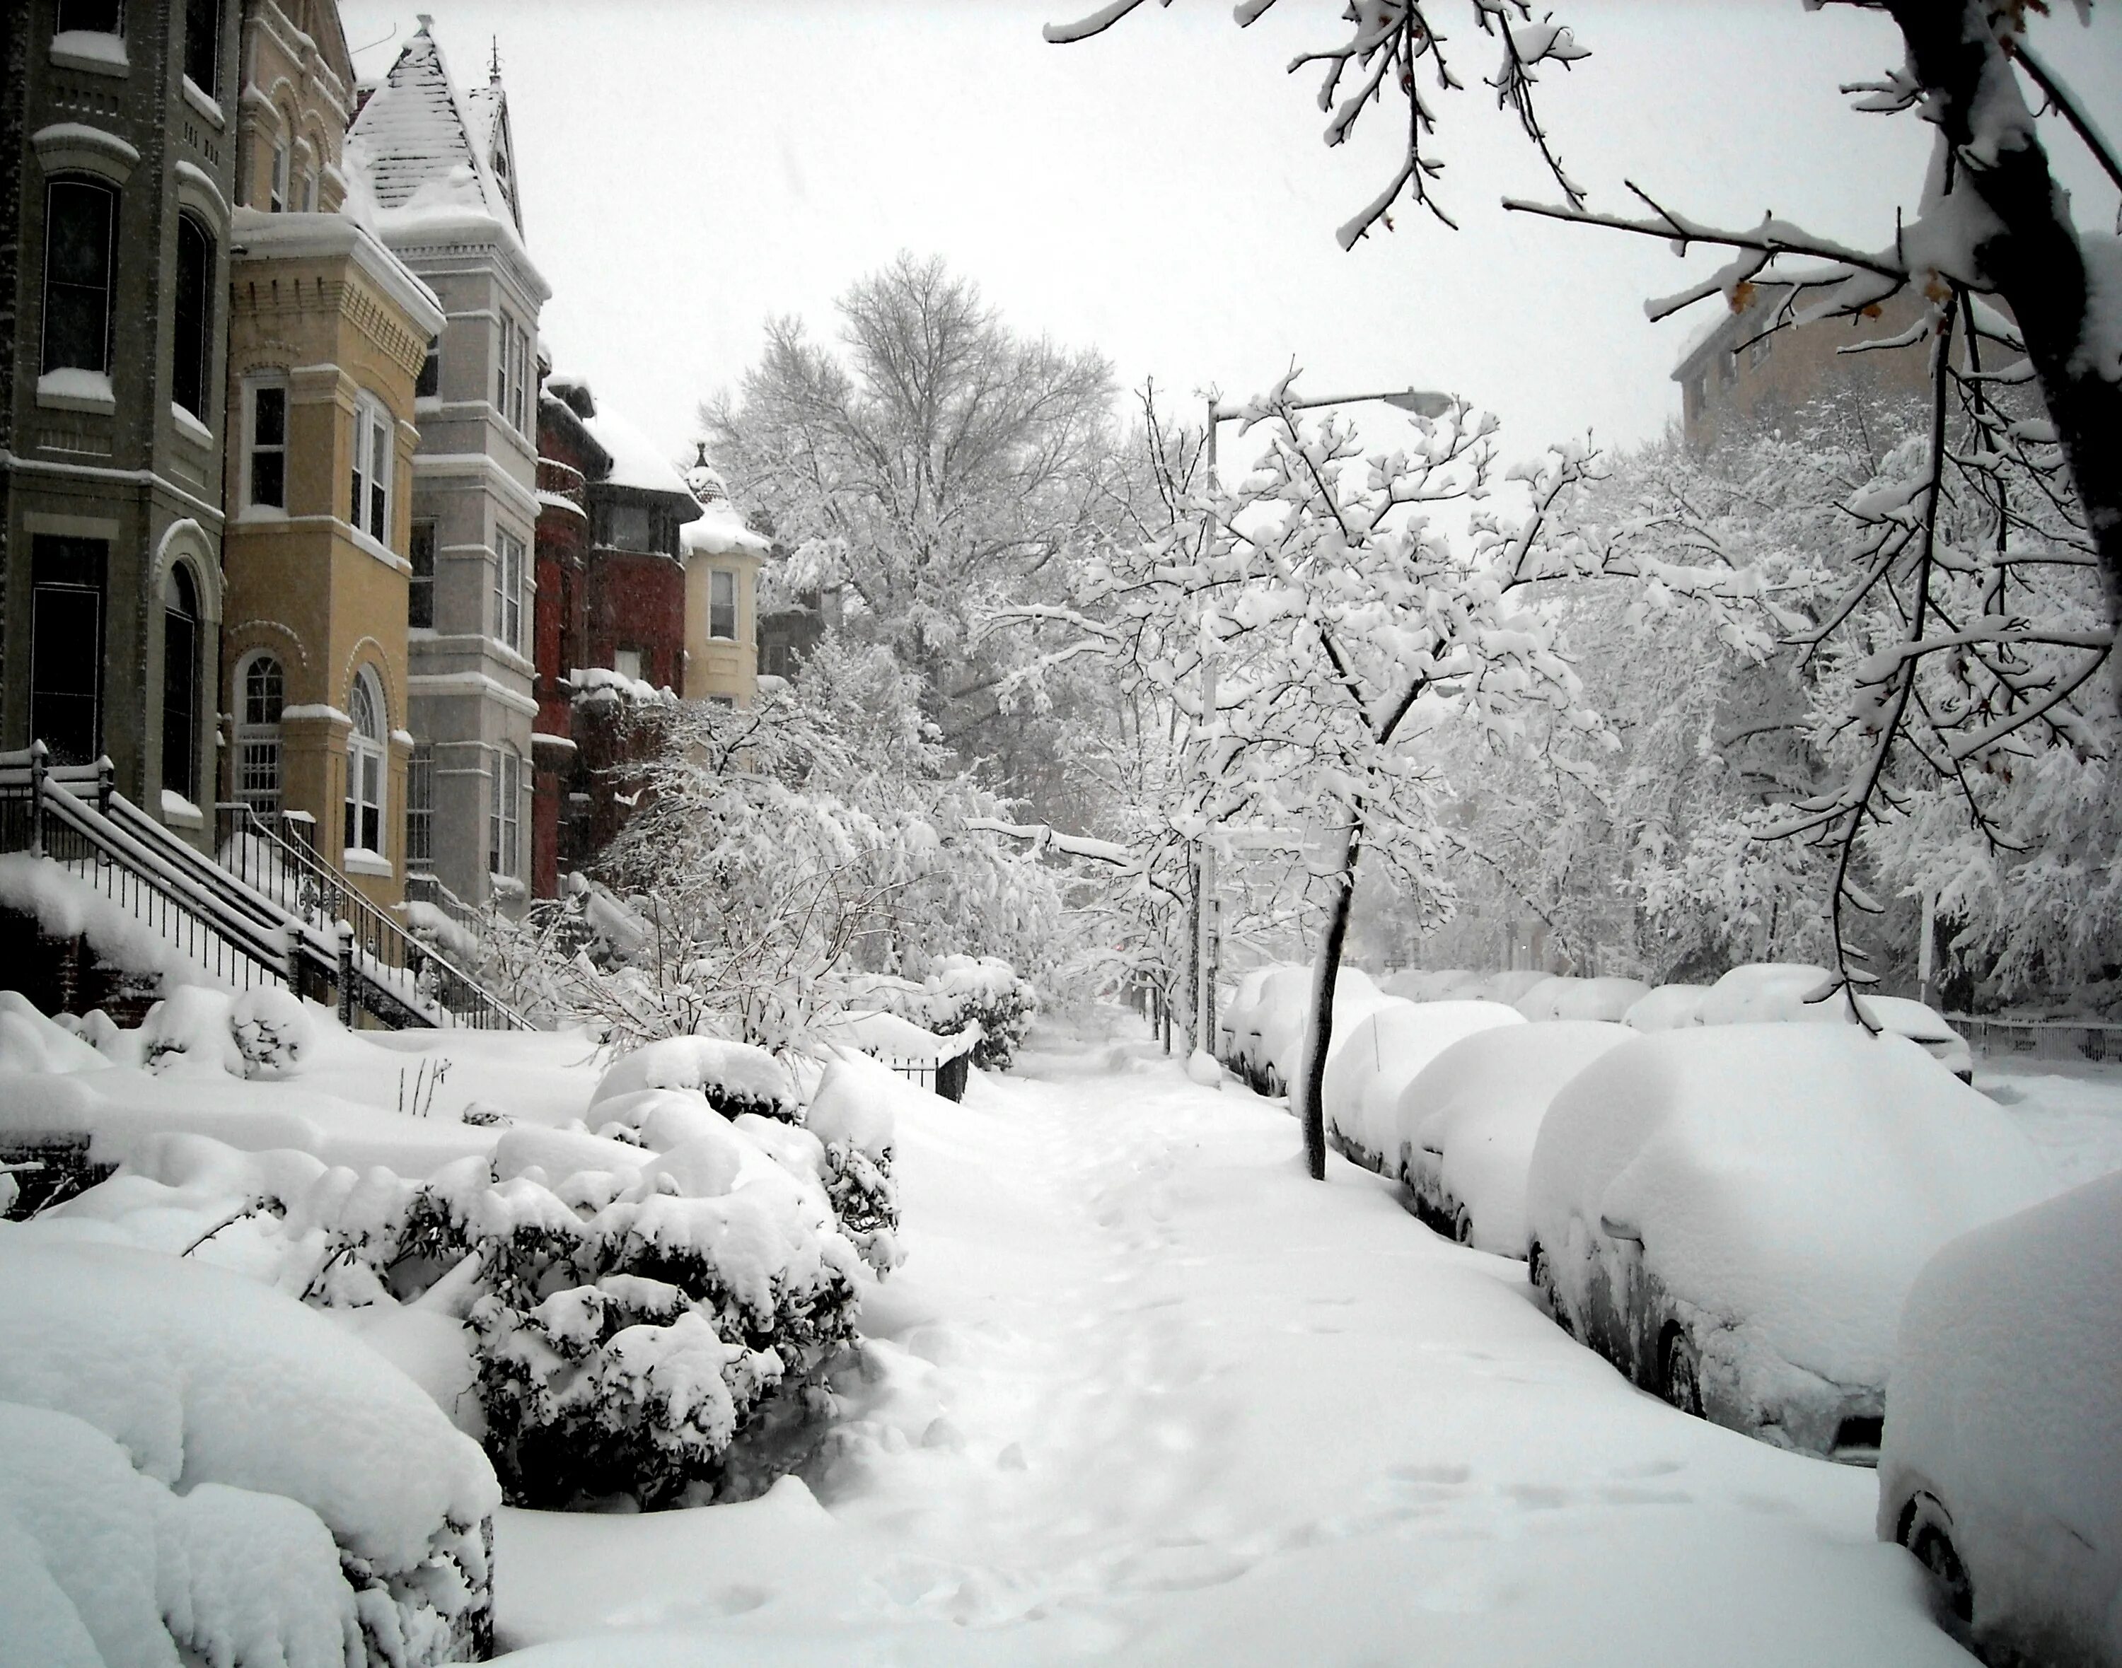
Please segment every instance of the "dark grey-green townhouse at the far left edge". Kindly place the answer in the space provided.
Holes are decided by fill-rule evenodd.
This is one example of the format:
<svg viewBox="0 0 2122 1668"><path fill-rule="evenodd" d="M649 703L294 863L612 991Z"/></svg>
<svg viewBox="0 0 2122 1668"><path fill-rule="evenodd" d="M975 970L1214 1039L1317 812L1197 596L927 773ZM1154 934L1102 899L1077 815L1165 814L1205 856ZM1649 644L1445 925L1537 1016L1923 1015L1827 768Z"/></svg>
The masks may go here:
<svg viewBox="0 0 2122 1668"><path fill-rule="evenodd" d="M108 753L199 842L236 13L13 0L0 21L0 747Z"/></svg>

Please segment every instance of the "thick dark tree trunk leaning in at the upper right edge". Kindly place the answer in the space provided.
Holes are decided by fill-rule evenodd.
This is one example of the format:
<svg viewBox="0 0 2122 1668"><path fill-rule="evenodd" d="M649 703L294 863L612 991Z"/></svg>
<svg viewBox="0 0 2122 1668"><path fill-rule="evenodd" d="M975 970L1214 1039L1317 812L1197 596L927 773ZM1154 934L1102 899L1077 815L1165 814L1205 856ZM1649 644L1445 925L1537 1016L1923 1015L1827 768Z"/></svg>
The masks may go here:
<svg viewBox="0 0 2122 1668"><path fill-rule="evenodd" d="M1973 138L1973 112L1986 79L2012 68L1978 0L1891 0L1916 79L1933 95L1946 140ZM1967 185L2003 223L2003 233L1978 250L1982 270L2012 308L2027 359L2041 384L2048 420L2086 511L2099 552L2107 620L2122 624L2122 386L2105 380L2086 352L2090 293L2086 259L2065 197L2048 172L2048 153L2029 142L2005 151L1993 168L1967 168ZM2116 662L2122 666L2122 660Z"/></svg>

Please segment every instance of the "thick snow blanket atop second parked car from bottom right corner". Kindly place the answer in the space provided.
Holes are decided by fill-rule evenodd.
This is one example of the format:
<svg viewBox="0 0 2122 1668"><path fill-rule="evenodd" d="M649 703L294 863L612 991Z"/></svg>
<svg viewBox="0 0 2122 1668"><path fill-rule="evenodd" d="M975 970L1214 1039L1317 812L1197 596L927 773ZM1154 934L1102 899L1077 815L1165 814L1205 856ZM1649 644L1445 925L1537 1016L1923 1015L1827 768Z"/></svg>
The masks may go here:
<svg viewBox="0 0 2122 1668"><path fill-rule="evenodd" d="M1526 1214L1549 1250L1602 1218L1638 1233L1676 1299L1827 1379L1882 1384L1923 1263L2052 1191L2018 1127L1914 1042L1723 1025L1640 1036L1572 1078Z"/></svg>

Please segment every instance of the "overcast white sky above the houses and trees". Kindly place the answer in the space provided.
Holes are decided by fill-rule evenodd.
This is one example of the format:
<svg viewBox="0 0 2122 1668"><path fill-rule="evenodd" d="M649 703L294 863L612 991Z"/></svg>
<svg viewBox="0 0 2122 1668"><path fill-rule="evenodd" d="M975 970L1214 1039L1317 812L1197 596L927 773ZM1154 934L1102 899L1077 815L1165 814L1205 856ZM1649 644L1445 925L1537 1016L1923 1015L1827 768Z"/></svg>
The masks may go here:
<svg viewBox="0 0 2122 1668"><path fill-rule="evenodd" d="M834 297L900 248L940 253L1021 331L1101 348L1123 386L1239 397L1292 361L1314 393L1441 386L1502 416L1507 454L1585 429L1634 441L1679 412L1668 373L1702 314L1653 327L1642 299L1715 259L1504 214L1502 193L1553 191L1479 85L1492 49L1471 21L1441 144L1462 231L1398 212L1343 255L1335 227L1390 176L1392 108L1328 151L1316 79L1284 74L1339 38L1339 4L1284 0L1237 30L1229 0L1173 0L1091 42L1040 40L1091 2L424 0L463 85L499 36L556 365L673 454L766 316L830 333ZM367 76L416 28L412 6L340 11ZM1836 91L1899 62L1884 19L1799 0L1555 11L1594 55L1545 72L1543 115L1596 208L1625 212L1634 178L1700 219L1772 208L1882 244L1914 202L1929 129ZM2058 11L2037 40L2122 132L2122 8L2092 30ZM2060 127L2050 151L2111 223L2114 191Z"/></svg>

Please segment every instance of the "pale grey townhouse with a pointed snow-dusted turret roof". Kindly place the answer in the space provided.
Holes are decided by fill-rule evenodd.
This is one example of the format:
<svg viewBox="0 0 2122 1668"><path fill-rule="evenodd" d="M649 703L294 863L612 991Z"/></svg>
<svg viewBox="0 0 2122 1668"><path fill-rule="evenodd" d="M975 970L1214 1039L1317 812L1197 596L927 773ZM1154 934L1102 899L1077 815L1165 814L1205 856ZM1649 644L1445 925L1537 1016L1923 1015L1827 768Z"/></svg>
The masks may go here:
<svg viewBox="0 0 2122 1668"><path fill-rule="evenodd" d="M537 320L499 74L475 100L422 17L346 146L348 202L441 299L414 456L410 885L465 904L530 876Z"/></svg>

